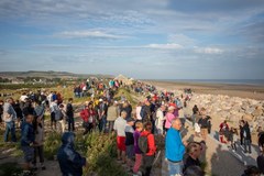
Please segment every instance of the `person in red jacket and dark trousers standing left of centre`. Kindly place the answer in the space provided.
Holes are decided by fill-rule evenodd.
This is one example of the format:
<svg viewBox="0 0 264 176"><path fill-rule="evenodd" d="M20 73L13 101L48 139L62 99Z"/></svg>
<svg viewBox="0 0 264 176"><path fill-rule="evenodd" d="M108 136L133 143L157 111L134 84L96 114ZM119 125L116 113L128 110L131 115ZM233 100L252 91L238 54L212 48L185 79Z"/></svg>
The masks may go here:
<svg viewBox="0 0 264 176"><path fill-rule="evenodd" d="M84 135L90 132L95 123L95 110L92 109L92 102L89 102L88 106L80 112L80 117L84 120L82 127L85 128Z"/></svg>

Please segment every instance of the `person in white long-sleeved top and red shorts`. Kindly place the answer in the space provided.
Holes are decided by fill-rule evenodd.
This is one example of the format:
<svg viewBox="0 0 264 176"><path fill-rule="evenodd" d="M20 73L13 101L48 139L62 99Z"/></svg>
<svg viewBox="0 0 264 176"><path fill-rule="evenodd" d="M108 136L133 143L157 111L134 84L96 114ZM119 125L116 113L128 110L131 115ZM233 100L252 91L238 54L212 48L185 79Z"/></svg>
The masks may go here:
<svg viewBox="0 0 264 176"><path fill-rule="evenodd" d="M127 125L127 112L122 111L121 116L116 119L113 130L117 133L117 145L118 145L118 161L125 163L125 125Z"/></svg>

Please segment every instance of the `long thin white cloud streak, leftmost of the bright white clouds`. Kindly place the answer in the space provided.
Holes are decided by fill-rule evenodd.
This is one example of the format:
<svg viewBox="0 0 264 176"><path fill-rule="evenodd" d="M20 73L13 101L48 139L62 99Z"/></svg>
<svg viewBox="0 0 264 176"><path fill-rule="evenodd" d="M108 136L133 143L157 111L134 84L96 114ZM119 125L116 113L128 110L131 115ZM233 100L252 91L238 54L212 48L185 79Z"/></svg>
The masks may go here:
<svg viewBox="0 0 264 176"><path fill-rule="evenodd" d="M94 37L94 38L110 38L110 40L119 40L119 38L128 37L123 35L109 34L102 31L64 31L64 32L54 34L54 36L65 37L65 38Z"/></svg>

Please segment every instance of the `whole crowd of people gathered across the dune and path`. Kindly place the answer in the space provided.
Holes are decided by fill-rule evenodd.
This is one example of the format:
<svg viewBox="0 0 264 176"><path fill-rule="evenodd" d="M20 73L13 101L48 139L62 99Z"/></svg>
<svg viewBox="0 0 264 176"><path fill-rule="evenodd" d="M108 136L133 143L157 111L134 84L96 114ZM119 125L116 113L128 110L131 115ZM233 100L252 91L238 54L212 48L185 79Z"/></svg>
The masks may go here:
<svg viewBox="0 0 264 176"><path fill-rule="evenodd" d="M191 100L191 92L176 96L169 91L157 91L154 86L136 81L132 86L125 86L131 91L145 96L143 102L139 102L133 111L131 102L121 94L120 100L114 100L114 91L124 86L122 81L110 80L107 84L96 80L85 80L74 88L76 98L88 96L79 116L82 120L84 135L89 135L94 130L100 132L114 132L117 134L118 161L128 172L134 175L154 175L152 167L158 152L165 150L168 175L204 176L200 156L205 154L208 133L211 132L211 117L205 108L193 108L191 121L195 134L200 136L199 142L183 141L183 120L179 114L183 108ZM62 133L62 147L57 158L63 175L81 175L81 167L87 165L86 158L74 148L75 139L75 108L74 99L66 102L59 92L45 94L37 91L30 95L23 94L19 101L8 98L0 101L0 112L6 125L4 142L16 142L15 121L21 128L21 148L24 153L24 169L29 170L31 163L36 168L36 158L40 157L41 168L45 169L43 155L44 141L44 113L51 114L51 129ZM109 107L116 108L116 120L111 128L108 122ZM67 123L67 125L66 125ZM59 127L59 128L58 128ZM66 128L67 127L67 128ZM67 129L67 131L66 131ZM230 143L237 150L238 130L230 128L224 121L220 124L219 140ZM263 150L263 132L260 130L260 147ZM158 146L162 139L165 146ZM251 132L246 121L241 120L241 145L244 153L251 153ZM160 141L161 142L161 141ZM260 169L263 172L263 154L257 158Z"/></svg>

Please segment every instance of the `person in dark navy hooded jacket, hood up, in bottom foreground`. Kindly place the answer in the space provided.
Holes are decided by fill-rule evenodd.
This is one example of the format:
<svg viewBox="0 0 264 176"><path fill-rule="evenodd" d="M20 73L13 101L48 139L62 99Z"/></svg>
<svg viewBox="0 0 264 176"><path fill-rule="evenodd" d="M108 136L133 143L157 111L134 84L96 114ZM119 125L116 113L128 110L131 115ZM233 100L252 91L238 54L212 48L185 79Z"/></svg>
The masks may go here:
<svg viewBox="0 0 264 176"><path fill-rule="evenodd" d="M63 176L81 176L82 166L86 166L86 158L80 156L74 148L75 134L65 132L62 138L62 146L57 153Z"/></svg>

